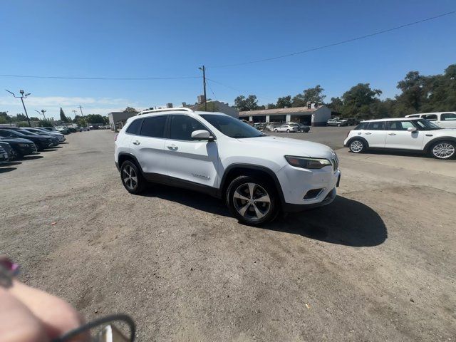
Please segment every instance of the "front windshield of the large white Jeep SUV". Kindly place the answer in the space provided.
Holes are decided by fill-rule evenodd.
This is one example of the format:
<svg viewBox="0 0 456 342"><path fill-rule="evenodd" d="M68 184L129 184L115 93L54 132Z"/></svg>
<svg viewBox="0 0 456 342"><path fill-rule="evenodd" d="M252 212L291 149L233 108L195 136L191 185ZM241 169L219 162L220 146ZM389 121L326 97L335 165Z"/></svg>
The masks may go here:
<svg viewBox="0 0 456 342"><path fill-rule="evenodd" d="M229 138L242 139L265 136L265 134L249 124L243 123L241 120L232 118L228 115L204 114L201 115L201 117L213 125L214 128L217 128L221 133L228 135Z"/></svg>

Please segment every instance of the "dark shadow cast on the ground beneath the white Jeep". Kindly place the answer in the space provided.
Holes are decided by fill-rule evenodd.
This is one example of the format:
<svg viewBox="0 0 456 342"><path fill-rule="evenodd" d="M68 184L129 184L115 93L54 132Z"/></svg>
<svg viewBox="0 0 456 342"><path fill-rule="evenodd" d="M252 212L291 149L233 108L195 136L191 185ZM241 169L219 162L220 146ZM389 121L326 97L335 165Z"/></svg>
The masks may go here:
<svg viewBox="0 0 456 342"><path fill-rule="evenodd" d="M222 200L199 192L151 185L142 196L166 199L204 212L232 217ZM371 207L341 196L321 208L281 215L259 229L298 234L309 239L352 247L378 246L388 238L383 219Z"/></svg>

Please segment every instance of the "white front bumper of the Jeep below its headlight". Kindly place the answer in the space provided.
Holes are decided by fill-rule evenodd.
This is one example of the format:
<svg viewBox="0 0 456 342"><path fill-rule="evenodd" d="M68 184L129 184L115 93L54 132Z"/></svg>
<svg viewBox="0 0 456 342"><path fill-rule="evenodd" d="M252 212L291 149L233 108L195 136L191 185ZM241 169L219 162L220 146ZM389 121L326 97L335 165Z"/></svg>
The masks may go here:
<svg viewBox="0 0 456 342"><path fill-rule="evenodd" d="M329 204L336 196L336 187L340 181L341 171L332 167L320 170L307 170L286 165L279 172L279 180L283 197L283 207L293 209L296 206L306 209ZM304 199L310 190L321 190L316 197ZM296 211L294 208L293 211Z"/></svg>

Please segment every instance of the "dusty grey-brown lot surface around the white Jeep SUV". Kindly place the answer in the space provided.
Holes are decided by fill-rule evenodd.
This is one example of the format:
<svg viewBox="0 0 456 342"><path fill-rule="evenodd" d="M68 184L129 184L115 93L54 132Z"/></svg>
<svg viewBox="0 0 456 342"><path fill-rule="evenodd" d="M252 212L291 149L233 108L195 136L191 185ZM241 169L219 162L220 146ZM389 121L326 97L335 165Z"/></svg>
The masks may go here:
<svg viewBox="0 0 456 342"><path fill-rule="evenodd" d="M195 192L128 194L113 138L0 167L0 252L27 284L131 314L138 341L456 340L455 161L338 150L333 204L254 228Z"/></svg>

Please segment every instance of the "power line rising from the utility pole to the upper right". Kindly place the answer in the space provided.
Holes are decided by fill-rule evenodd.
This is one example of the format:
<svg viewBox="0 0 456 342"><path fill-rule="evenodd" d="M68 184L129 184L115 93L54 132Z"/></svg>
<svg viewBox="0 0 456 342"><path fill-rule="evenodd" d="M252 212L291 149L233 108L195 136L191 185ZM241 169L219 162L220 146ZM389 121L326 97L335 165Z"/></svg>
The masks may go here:
<svg viewBox="0 0 456 342"><path fill-rule="evenodd" d="M424 23L425 21L430 21L430 20L442 18L442 16L449 16L450 14L455 14L455 13L456 13L456 11L450 11L450 12L447 12L447 13L444 13L444 14L440 14L438 16L431 16L431 17L423 19L423 20L413 21L413 23L408 23L408 24L404 24L404 25L400 25L400 26L395 26L393 28L388 28L388 29L385 29L385 30L382 30L382 31L369 33L369 34L366 34L364 36L358 36L358 37L355 37L355 38L346 39L345 41L338 41L337 43L332 43L332 44L328 44L328 45L318 46L316 48L309 48L309 50L304 50L304 51L299 51L299 52L294 52L294 53L287 53L286 55L281 55L281 56L275 56L275 57L269 57L269 58L261 58L261 59L257 59L257 60L254 60L254 61L248 61L248 62L242 62L242 63L225 64L223 66L209 66L208 68L227 68L227 67L230 67L230 66L244 66L246 64L273 61L273 60L279 59L279 58L286 58L286 57L301 55L303 53L309 53L309 52L312 52L312 51L321 50L323 48L331 48L332 46L338 46L338 45L341 45L341 44L350 43L352 41L358 41L360 39L365 39L365 38L369 38L369 37L373 37L373 36L378 36L379 34L388 33L388 32L391 32L391 31L396 31L396 30L399 30L400 28L413 26L413 25L416 25L416 24Z"/></svg>

